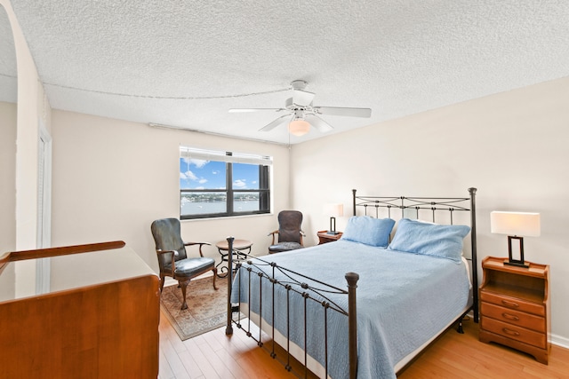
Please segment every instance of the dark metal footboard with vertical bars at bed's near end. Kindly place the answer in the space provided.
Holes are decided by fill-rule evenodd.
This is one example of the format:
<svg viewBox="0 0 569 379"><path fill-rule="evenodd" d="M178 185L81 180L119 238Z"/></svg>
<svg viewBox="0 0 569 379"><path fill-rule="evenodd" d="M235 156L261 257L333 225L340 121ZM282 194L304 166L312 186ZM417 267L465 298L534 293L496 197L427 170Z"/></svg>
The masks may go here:
<svg viewBox="0 0 569 379"><path fill-rule="evenodd" d="M233 237L228 237L227 239L228 241L228 249L230 251L233 251L233 241L234 238ZM240 254L242 254L243 252L240 252ZM232 254L228 254L228 267L233 267L234 266L234 262L233 262L233 255ZM318 366L318 368L322 371L322 375L324 377L328 377L329 375L329 371L328 371L328 356L329 356L329 339L328 339L328 325L327 325L327 320L328 320L328 314L329 312L337 312L339 314L341 314L342 316L345 316L347 318L347 322L348 322L348 334L349 334L349 339L348 339L348 351L349 351L349 377L355 379L357 376L357 311L356 311L356 307L357 307L357 303L356 303L356 288L357 288L357 280L359 280L359 275L355 272L348 272L345 275L345 279L347 281L348 284L348 290L345 289L341 289L341 288L336 288L333 287L329 284L326 284L322 281L319 280L315 280L313 278L309 278L305 275L302 275L299 272L293 272L291 270L286 269L285 267L280 267L278 265L276 265L275 263L272 262L268 262L266 260L263 260L262 258L258 258L258 257L247 257L246 260L239 260L237 262L235 262L236 264L236 271L240 270L241 267L243 266L243 269L240 271L243 272L242 274L238 275L238 277L236 278L236 285L238 286L235 290L237 293L237 297L238 297L238 301L235 301L235 298L233 298L233 302L232 302L232 293L234 291L233 288L233 280L228 280L228 319L227 319L227 327L225 329L225 333L226 335L231 335L233 334L233 324L236 325L237 328L241 328L244 329L245 333L247 334L247 336L252 337L257 344L267 350L271 357L274 359L279 360L279 362L281 362L284 365L284 368L288 371L293 372L293 374L299 376L299 377L309 377L309 367L314 366L315 364ZM246 265L244 265L246 264ZM278 276L281 277L281 279L277 279L276 278L276 274L278 274ZM240 303L240 300L242 298L242 294L241 294L241 280L248 280L248 288L249 288L249 293L246 294L247 299L251 299L251 281L252 280L259 280L259 286L258 286L258 291L260 291L259 294L259 314L255 314L254 312L252 312L251 306L247 307L247 310L244 309L239 309L238 308L238 304ZM265 280L265 283L268 284L269 288L271 288L272 290L272 294L269 294L269 298L270 298L270 302L271 304L265 304L263 305L263 280ZM308 284L310 283L310 284ZM287 328L286 330L281 330L278 331L276 330L276 327L274 325L275 322L267 322L266 320L263 320L263 310L265 309L265 307L268 307L269 310L272 310L272 315L269 315L269 319L274 321L276 320L276 314L275 314L275 309L276 309L276 296L275 296L275 291L276 288L280 288L285 290L286 293L286 323L287 323ZM266 288L265 288L266 289ZM346 304L348 304L347 306L347 310L345 309L345 306L341 306L340 304L337 304L337 302L334 302L333 300L331 300L330 298L330 294L334 294L334 295L341 295L341 296L347 296L347 301ZM244 294L245 295L245 294ZM243 296L244 296L243 295ZM291 322L291 318L290 318L290 307L292 304L292 300L291 297L292 296L301 296L302 298L302 302L303 302L303 312L304 312L304 325L303 325L303 333L304 336L302 336L301 339L301 349L302 349L302 356L299 356L298 350L294 350L295 345L298 345L299 341L297 341L296 343L293 342L291 340L291 336L290 336L290 322ZM310 306L321 306L322 307L322 312L324 315L323 318L323 325L324 325L324 336L323 336L323 340L324 340L324 361L319 361L317 362L316 359L313 359L312 357L309 356L310 352L307 351L308 348L307 346L309 346L309 336L312 333L312 331L309 329L310 328L310 324L307 321L308 319L308 312L307 309L309 309ZM243 315L245 317L245 319L242 318L242 312ZM235 314L235 317L234 317ZM257 317L258 316L258 317ZM252 328L251 328L251 322L252 322L252 318L256 319L258 322L258 328L259 328L259 335L258 336L254 336L252 333ZM242 320L246 320L245 325L242 323ZM270 338L270 345L269 346L265 346L265 343L263 342L263 338L262 335L263 333L265 333L268 338ZM279 337L279 339L282 341L284 340L284 343L280 343L281 347L284 349L285 353L285 357L280 357L277 353L276 350L276 337ZM295 351L295 352L293 352ZM293 370L293 366L292 366L292 359L296 359L298 360L304 367L304 373L300 374L297 373Z"/></svg>

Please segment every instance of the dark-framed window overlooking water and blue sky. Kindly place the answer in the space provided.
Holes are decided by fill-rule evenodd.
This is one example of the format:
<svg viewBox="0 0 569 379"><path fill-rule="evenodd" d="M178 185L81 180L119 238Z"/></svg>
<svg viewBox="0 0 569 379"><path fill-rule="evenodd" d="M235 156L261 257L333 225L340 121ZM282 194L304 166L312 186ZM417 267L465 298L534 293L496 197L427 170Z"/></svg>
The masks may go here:
<svg viewBox="0 0 569 379"><path fill-rule="evenodd" d="M270 212L272 158L180 146L180 219Z"/></svg>

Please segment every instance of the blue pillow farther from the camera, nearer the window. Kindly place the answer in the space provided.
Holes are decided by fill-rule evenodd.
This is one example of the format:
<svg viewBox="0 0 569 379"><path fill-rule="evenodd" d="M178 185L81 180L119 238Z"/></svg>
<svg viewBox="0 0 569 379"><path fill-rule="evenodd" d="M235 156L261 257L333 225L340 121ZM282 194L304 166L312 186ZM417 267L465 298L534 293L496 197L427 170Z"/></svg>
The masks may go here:
<svg viewBox="0 0 569 379"><path fill-rule="evenodd" d="M389 244L389 234L393 225L395 225L395 220L391 218L352 216L349 218L341 240L386 248Z"/></svg>

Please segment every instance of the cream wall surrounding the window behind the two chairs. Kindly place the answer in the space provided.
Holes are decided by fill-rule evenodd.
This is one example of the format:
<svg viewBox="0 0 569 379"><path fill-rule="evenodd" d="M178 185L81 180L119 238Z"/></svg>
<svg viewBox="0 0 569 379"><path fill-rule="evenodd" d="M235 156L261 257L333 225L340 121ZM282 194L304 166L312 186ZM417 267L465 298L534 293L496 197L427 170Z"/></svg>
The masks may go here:
<svg viewBox="0 0 569 379"><path fill-rule="evenodd" d="M272 155L271 197L276 211L289 204L289 150L285 146L54 110L52 112L52 245L125 241L157 271L150 224L180 217L179 146ZM214 244L229 235L253 241L264 254L275 215L182 221L185 241ZM204 253L219 258L214 247Z"/></svg>

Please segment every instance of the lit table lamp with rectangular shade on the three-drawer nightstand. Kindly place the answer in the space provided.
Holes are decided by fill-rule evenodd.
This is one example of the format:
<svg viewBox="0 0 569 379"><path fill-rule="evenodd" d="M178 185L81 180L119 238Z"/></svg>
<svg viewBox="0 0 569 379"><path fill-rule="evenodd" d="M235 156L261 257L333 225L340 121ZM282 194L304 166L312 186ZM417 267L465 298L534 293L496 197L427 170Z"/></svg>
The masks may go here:
<svg viewBox="0 0 569 379"><path fill-rule="evenodd" d="M539 237L541 233L540 214L529 212L502 212L490 213L491 233L508 235L508 257L504 265L529 267L524 260L524 237ZM512 240L519 241L519 259L512 256Z"/></svg>

